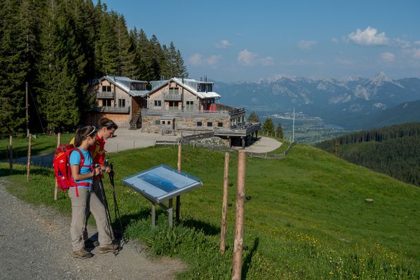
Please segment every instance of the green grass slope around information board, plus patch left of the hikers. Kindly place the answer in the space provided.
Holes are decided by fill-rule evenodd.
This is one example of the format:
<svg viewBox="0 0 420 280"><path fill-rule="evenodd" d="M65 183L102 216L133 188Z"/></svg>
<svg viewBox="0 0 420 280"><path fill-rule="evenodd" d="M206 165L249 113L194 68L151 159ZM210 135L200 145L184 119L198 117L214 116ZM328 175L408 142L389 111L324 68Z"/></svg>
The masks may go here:
<svg viewBox="0 0 420 280"><path fill-rule="evenodd" d="M224 153L183 147L182 170L204 186L182 196L182 224L166 228L160 211L150 230L150 206L121 179L165 163L176 167L177 147L112 153L120 213L132 238L158 254L190 265L180 277L229 279L233 249L237 156L231 154L227 254L218 254ZM7 165L0 165L1 176ZM37 169L28 185L24 171L10 176L11 191L70 213L68 198L53 201L53 177ZM19 172L15 172L19 173ZM45 176L48 175L46 179ZM105 180L106 184L108 180ZM420 277L420 189L351 165L324 151L297 145L285 160L247 159L242 275L249 279ZM23 185L23 187L16 187ZM27 187L26 187L27 186ZM111 194L108 194L108 199ZM374 203L365 203L373 198ZM113 212L111 210L111 212Z"/></svg>

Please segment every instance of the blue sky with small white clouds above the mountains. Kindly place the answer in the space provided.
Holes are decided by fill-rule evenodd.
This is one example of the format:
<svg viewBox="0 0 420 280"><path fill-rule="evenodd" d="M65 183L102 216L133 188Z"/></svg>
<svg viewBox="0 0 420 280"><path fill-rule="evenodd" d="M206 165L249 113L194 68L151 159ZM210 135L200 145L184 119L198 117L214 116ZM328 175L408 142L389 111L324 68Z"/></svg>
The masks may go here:
<svg viewBox="0 0 420 280"><path fill-rule="evenodd" d="M189 77L420 77L420 1L104 0L160 44Z"/></svg>

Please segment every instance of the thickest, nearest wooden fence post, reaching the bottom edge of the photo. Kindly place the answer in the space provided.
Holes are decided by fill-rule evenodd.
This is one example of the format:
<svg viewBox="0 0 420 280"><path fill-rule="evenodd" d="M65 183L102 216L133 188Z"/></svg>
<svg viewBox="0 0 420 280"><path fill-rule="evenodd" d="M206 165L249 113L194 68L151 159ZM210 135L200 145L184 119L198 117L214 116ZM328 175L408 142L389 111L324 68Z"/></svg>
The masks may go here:
<svg viewBox="0 0 420 280"><path fill-rule="evenodd" d="M240 151L238 156L238 189L236 191L235 242L233 243L233 280L240 280L242 273L246 165L247 153L245 153L245 151Z"/></svg>

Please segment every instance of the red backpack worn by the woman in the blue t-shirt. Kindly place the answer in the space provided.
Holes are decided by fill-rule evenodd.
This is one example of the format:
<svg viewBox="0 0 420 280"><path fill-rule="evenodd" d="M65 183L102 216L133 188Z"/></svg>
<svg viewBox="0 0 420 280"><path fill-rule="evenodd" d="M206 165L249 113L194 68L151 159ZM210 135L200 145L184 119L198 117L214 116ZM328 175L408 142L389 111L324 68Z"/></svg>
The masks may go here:
<svg viewBox="0 0 420 280"><path fill-rule="evenodd" d="M57 185L62 191L68 190L70 187L76 187L76 196L79 196L77 192L77 185L89 185L88 183L76 183L71 176L70 167L70 153L72 151L78 151L80 154L80 169L84 167L84 156L82 151L77 149L73 144L63 144L55 150L55 156L53 160L53 167L55 178L57 179ZM89 166L90 167L90 166ZM80 170L79 169L79 170Z"/></svg>

